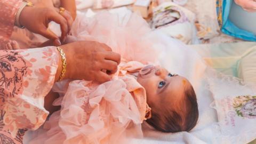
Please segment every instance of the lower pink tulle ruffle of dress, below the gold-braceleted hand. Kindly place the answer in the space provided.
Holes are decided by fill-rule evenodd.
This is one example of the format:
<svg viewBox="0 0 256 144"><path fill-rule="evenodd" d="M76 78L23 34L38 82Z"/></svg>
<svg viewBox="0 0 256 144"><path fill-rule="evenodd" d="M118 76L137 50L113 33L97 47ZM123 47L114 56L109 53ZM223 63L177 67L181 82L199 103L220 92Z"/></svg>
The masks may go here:
<svg viewBox="0 0 256 144"><path fill-rule="evenodd" d="M125 143L142 137L140 113L126 83L73 81L43 132L30 143Z"/></svg>

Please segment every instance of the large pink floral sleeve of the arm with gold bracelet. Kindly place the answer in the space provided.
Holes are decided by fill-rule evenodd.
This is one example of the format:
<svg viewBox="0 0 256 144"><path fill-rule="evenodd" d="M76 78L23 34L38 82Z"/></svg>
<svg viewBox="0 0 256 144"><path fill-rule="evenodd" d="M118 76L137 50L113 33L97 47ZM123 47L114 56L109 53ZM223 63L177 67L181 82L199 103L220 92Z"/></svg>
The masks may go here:
<svg viewBox="0 0 256 144"><path fill-rule="evenodd" d="M55 47L0 50L0 143L22 143L26 130L44 123L58 62Z"/></svg>

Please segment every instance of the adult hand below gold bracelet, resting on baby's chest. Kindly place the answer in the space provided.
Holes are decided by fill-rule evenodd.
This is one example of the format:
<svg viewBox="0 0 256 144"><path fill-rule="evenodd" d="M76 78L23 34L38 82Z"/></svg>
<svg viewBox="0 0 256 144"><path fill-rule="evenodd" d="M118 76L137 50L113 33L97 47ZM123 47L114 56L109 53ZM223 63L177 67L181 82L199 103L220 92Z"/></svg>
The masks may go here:
<svg viewBox="0 0 256 144"><path fill-rule="evenodd" d="M65 78L106 82L117 71L121 56L106 44L93 41L79 41L60 46L66 53ZM57 79L61 71L60 62ZM109 73L106 73L109 72Z"/></svg>

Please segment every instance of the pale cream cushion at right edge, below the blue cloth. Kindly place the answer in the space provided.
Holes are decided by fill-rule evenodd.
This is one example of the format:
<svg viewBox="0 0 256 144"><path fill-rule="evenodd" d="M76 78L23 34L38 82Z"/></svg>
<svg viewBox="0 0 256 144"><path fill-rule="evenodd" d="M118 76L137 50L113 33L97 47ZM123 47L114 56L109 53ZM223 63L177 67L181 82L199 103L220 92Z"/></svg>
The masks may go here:
<svg viewBox="0 0 256 144"><path fill-rule="evenodd" d="M256 43L224 43L189 45L207 65L244 82L256 83Z"/></svg>

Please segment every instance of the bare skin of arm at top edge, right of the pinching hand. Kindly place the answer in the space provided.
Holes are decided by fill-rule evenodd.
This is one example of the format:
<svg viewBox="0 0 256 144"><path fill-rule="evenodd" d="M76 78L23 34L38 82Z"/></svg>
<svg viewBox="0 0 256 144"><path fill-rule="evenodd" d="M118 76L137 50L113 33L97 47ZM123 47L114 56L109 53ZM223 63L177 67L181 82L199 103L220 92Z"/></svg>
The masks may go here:
<svg viewBox="0 0 256 144"><path fill-rule="evenodd" d="M75 0L60 0L60 6L68 10L71 15L73 20L76 19L76 2Z"/></svg>

